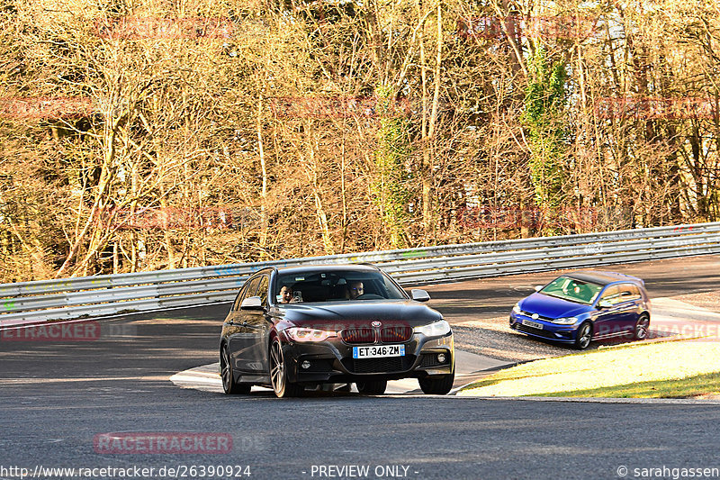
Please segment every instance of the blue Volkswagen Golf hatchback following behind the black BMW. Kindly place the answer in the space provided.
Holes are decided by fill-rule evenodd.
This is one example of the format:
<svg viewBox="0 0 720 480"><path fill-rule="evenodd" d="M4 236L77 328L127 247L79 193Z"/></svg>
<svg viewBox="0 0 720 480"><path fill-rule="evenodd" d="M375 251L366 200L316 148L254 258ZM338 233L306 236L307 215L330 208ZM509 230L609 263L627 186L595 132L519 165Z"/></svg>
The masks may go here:
<svg viewBox="0 0 720 480"><path fill-rule="evenodd" d="M513 330L577 349L587 349L590 340L644 340L649 327L644 281L612 272L558 276L510 312Z"/></svg>

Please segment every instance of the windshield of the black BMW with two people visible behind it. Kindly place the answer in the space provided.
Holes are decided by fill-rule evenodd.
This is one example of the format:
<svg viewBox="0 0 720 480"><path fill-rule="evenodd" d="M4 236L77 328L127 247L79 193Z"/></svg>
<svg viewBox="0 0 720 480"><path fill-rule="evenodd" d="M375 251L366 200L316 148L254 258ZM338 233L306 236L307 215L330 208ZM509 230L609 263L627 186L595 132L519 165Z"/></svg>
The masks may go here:
<svg viewBox="0 0 720 480"><path fill-rule="evenodd" d="M313 270L281 274L275 284L277 303L354 302L407 297L379 271Z"/></svg>

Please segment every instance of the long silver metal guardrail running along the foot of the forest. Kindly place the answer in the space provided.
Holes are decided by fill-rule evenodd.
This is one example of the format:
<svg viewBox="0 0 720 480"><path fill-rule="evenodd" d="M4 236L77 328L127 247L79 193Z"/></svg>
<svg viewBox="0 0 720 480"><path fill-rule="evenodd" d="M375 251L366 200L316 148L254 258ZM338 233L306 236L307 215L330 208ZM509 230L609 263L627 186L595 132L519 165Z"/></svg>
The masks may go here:
<svg viewBox="0 0 720 480"><path fill-rule="evenodd" d="M227 302L265 267L372 262L401 285L720 253L720 222L0 285L0 327Z"/></svg>

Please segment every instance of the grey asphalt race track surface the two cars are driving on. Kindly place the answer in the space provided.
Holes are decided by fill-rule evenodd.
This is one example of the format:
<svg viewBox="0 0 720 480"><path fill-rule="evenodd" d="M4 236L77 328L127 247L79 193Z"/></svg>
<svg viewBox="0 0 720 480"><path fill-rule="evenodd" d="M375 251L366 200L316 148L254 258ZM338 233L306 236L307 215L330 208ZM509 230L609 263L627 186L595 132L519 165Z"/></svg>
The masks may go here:
<svg viewBox="0 0 720 480"><path fill-rule="evenodd" d="M720 258L673 262L679 260L615 269L644 276L656 296L720 289ZM527 287L549 277L552 274L506 277L429 289L438 302L459 302L463 316L496 315L505 314L508 305L523 296L520 290L499 293L498 285ZM483 306L473 310L464 300ZM720 468L716 404L408 395L279 400L264 393L229 397L172 385L168 377L176 372L216 361L227 308L105 320L94 324L99 325L99 338L88 341L15 341L4 336L0 479L17 478L14 467L33 473L35 466L154 467L150 478L201 478L200 469L194 474L184 470L193 465L205 467L204 478L247 478L208 475L208 466L229 466L233 474L247 473L233 466L249 466L249 478L282 479L671 478L672 468ZM197 446L194 451L184 448L185 453L138 453L143 449L139 443L126 443L123 448L130 453L108 453L94 445L106 432L130 432L138 439L152 432L165 437L172 437L168 432L186 432L185 437L226 434L232 448L227 453L203 453ZM351 465L369 466L368 474L347 475L359 472L338 469ZM184 476L158 475L161 466L180 466ZM628 468L626 476L617 475L621 466ZM663 467L665 475L642 470L660 468L654 473L663 474ZM87 477L121 478L99 471Z"/></svg>

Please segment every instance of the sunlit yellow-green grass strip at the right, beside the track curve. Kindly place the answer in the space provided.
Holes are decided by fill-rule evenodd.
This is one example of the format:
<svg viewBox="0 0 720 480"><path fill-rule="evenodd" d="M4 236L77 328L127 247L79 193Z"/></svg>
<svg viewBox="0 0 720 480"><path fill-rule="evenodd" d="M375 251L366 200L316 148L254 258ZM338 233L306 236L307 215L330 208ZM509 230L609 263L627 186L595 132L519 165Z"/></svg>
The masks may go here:
<svg viewBox="0 0 720 480"><path fill-rule="evenodd" d="M718 341L638 342L500 370L459 394L683 397L718 391L717 375Z"/></svg>

